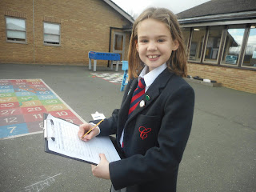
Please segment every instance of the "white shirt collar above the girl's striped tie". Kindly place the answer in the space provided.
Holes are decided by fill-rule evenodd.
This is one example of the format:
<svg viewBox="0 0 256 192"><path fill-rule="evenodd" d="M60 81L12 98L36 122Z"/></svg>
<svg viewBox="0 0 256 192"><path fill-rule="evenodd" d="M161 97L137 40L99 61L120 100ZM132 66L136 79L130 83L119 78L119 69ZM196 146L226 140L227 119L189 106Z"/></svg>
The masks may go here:
<svg viewBox="0 0 256 192"><path fill-rule="evenodd" d="M154 70L149 71L149 67L145 66L141 72L141 74L139 74L138 76L138 80L140 78L144 78L144 82L146 84L146 90L149 89L149 87L151 86L151 84L154 82L154 80L158 77L159 74L162 73L163 70L165 70L167 67L166 63L162 64L161 66L158 66L157 68L155 68Z"/></svg>

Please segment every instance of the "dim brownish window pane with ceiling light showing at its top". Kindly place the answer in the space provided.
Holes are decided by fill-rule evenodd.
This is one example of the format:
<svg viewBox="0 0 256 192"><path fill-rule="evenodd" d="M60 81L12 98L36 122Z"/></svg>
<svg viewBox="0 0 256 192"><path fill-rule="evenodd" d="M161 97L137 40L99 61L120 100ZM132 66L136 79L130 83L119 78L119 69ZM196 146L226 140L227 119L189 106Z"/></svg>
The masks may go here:
<svg viewBox="0 0 256 192"><path fill-rule="evenodd" d="M206 34L206 27L198 27L193 29L191 45L190 45L190 61L201 60L202 44Z"/></svg>

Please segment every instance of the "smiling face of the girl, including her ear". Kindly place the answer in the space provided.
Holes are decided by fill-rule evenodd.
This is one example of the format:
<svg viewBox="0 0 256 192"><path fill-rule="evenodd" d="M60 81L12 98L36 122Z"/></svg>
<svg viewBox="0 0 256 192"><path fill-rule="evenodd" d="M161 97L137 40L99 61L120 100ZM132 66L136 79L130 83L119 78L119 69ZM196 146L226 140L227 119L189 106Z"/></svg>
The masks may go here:
<svg viewBox="0 0 256 192"><path fill-rule="evenodd" d="M139 58L149 66L150 71L167 62L178 45L178 41L171 38L165 23L148 18L138 24L136 48Z"/></svg>

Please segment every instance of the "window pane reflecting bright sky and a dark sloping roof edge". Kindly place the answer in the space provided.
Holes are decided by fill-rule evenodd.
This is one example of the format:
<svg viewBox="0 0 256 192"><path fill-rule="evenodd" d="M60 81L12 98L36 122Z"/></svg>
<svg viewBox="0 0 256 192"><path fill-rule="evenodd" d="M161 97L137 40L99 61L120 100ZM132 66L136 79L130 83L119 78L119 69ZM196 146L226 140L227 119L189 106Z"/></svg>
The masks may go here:
<svg viewBox="0 0 256 192"><path fill-rule="evenodd" d="M222 64L238 65L245 26L230 26L226 32Z"/></svg>

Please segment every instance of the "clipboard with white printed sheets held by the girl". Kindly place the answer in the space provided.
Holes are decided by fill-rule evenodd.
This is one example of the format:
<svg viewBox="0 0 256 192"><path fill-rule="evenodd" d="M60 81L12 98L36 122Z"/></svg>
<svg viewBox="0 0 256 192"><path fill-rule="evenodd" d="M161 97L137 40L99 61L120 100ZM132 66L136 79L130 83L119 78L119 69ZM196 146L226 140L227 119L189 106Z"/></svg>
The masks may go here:
<svg viewBox="0 0 256 192"><path fill-rule="evenodd" d="M57 126L58 123L59 125ZM60 134L65 132L63 130L66 126L74 128L74 132L65 137L62 135L63 137L61 137ZM78 138L78 128L78 125L67 122L65 119L55 118L51 114L43 114L45 152L92 165L98 165L100 161L99 153L105 154L109 162L118 161L121 159L120 157L123 157L122 153L118 151L115 138L111 136L95 137L89 142L83 142Z"/></svg>

